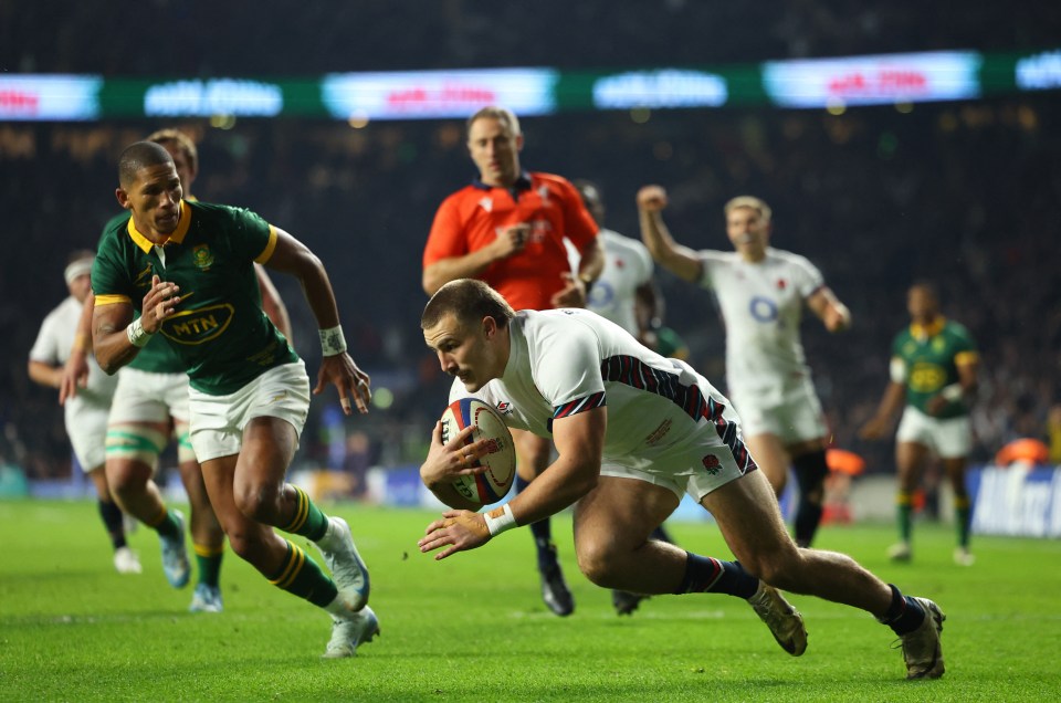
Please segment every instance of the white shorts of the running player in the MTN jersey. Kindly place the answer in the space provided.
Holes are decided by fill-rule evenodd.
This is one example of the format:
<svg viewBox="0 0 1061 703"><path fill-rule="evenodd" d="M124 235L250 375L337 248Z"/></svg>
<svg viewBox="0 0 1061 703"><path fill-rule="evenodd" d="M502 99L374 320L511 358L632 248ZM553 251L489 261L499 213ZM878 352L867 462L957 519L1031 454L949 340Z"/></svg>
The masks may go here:
<svg viewBox="0 0 1061 703"><path fill-rule="evenodd" d="M286 420L301 436L309 412L309 377L301 359L271 368L228 396L188 389L191 445L200 462L240 453L243 428L254 418Z"/></svg>

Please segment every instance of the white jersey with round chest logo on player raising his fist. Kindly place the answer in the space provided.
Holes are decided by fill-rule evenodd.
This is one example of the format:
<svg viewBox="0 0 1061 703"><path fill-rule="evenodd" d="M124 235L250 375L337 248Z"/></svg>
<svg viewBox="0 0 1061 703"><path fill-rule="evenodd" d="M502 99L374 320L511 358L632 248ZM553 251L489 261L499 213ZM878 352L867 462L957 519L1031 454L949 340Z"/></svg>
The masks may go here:
<svg viewBox="0 0 1061 703"><path fill-rule="evenodd" d="M780 392L810 377L799 339L803 302L824 286L806 258L768 248L747 262L737 252L701 251L700 284L714 292L726 327L731 394Z"/></svg>

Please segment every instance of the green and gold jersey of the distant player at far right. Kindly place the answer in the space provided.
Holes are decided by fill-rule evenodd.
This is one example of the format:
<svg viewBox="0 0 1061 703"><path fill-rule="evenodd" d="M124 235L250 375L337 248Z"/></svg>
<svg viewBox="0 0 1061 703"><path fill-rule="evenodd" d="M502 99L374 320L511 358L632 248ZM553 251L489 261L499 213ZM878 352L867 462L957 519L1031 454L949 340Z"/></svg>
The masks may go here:
<svg viewBox="0 0 1061 703"><path fill-rule="evenodd" d="M943 317L927 326L911 325L892 343L892 363L901 363L906 385L906 405L928 413L928 399L959 381L958 366L977 360L973 336L963 325ZM968 413L960 400L947 403L937 418Z"/></svg>

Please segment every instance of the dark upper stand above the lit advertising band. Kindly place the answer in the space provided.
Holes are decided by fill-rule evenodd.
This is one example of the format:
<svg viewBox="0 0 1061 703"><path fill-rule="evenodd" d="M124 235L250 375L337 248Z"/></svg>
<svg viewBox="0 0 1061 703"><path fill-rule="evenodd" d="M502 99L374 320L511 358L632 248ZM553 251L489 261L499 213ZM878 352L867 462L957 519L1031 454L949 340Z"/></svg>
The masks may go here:
<svg viewBox="0 0 1061 703"><path fill-rule="evenodd" d="M601 0L273 0L264 13L239 2L112 0L107 9L136 28L107 27L91 3L0 3L0 63L28 73L185 76L687 65L1049 49L1061 23L1061 8L1041 0L656 0L621 8Z"/></svg>

